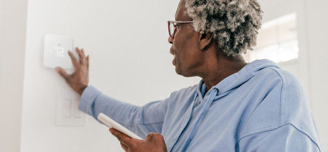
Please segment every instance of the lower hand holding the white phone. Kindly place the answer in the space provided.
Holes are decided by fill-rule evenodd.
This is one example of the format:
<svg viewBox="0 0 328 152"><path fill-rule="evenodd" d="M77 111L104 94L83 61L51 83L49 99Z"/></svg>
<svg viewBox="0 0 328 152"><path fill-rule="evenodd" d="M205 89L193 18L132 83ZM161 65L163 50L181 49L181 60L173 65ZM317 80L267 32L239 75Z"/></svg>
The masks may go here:
<svg viewBox="0 0 328 152"><path fill-rule="evenodd" d="M139 151L153 151L153 152L166 152L166 144L163 136L160 133L148 133L146 140L138 140L131 138L128 135L110 128L110 133L121 142L124 151L139 152Z"/></svg>

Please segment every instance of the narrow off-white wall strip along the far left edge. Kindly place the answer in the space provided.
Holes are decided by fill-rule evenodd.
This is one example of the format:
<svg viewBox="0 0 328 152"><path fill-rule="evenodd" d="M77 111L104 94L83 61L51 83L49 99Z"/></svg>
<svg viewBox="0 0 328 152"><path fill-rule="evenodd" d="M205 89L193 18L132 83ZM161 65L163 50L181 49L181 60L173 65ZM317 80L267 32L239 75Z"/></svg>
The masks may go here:
<svg viewBox="0 0 328 152"><path fill-rule="evenodd" d="M26 0L0 0L0 151L19 151Z"/></svg>

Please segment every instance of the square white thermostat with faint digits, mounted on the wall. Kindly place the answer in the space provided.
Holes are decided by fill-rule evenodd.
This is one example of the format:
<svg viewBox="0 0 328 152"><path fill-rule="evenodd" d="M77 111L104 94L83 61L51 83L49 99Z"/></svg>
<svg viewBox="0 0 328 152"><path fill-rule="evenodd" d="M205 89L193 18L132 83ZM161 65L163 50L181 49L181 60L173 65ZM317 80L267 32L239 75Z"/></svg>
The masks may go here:
<svg viewBox="0 0 328 152"><path fill-rule="evenodd" d="M68 50L75 54L75 51L72 51L73 37L46 34L44 37L44 67L71 69L73 65Z"/></svg>

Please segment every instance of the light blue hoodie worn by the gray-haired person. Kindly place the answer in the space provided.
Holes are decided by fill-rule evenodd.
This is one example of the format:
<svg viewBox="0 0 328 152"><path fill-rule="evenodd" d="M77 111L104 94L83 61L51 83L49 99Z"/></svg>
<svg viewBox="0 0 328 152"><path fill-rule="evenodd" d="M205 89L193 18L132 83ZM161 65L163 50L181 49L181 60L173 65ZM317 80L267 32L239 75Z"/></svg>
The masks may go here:
<svg viewBox="0 0 328 152"><path fill-rule="evenodd" d="M198 85L137 107L89 86L79 109L105 113L142 138L164 136L168 151L320 151L318 131L298 80L258 60L206 92Z"/></svg>

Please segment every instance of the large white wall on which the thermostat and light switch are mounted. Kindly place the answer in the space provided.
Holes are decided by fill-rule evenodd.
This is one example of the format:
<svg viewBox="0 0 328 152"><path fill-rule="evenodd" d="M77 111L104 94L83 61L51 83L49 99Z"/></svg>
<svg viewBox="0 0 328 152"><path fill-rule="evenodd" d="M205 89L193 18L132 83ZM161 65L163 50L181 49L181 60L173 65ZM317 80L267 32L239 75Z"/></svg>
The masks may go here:
<svg viewBox="0 0 328 152"><path fill-rule="evenodd" d="M45 34L69 35L90 58L90 84L105 94L144 105L199 78L175 74L167 20L179 1L30 0L26 35L21 151L122 151L106 127L56 127L58 90L70 88L42 66Z"/></svg>

